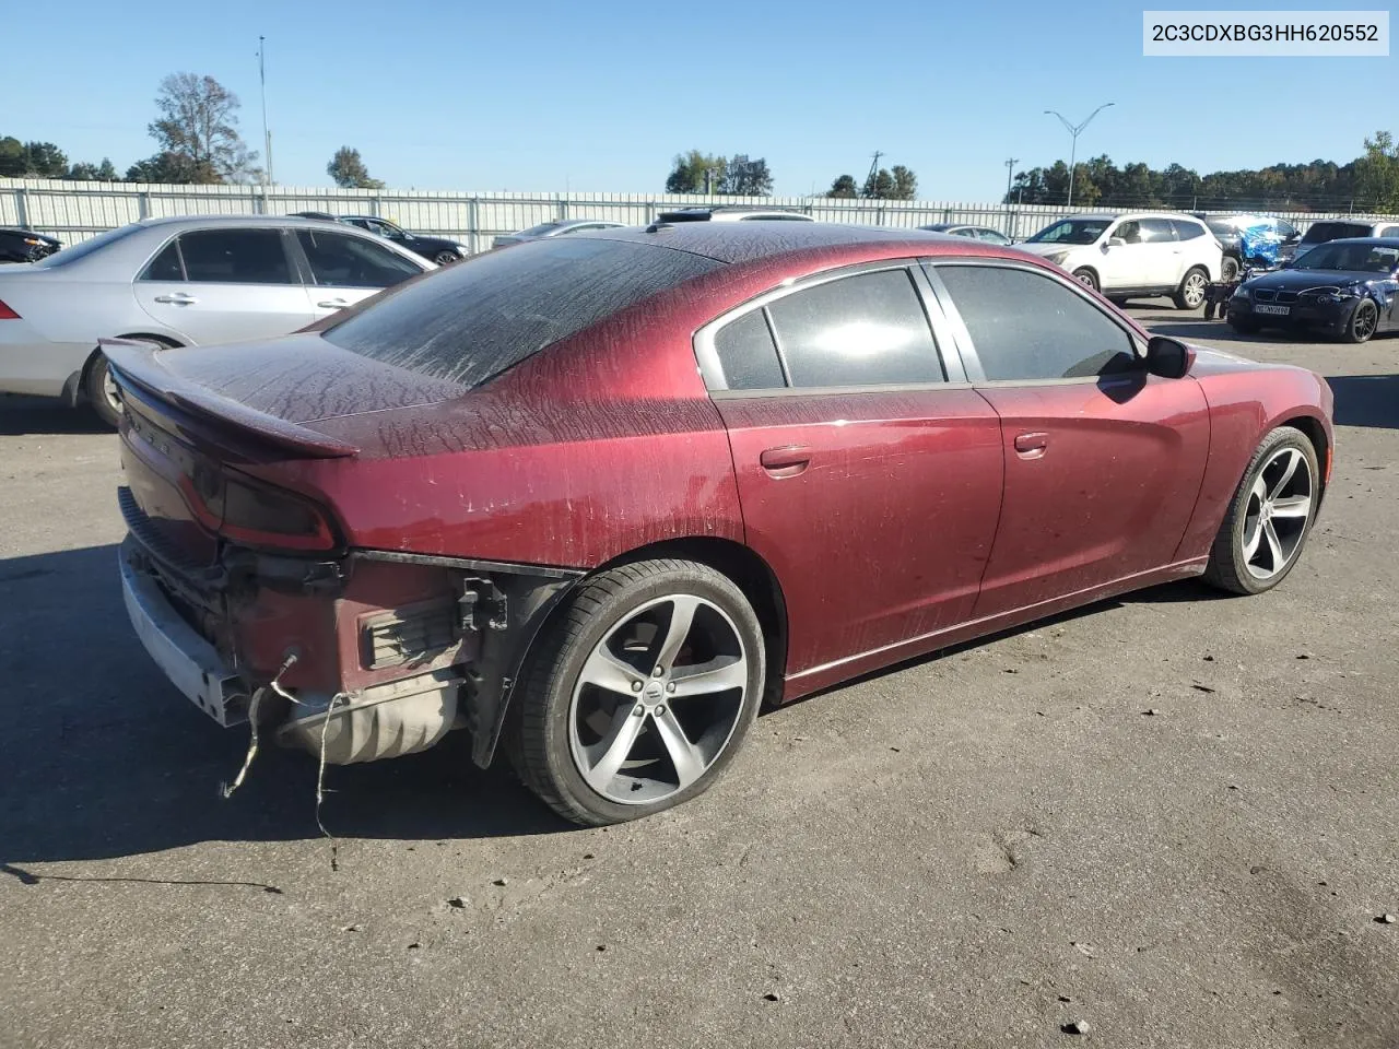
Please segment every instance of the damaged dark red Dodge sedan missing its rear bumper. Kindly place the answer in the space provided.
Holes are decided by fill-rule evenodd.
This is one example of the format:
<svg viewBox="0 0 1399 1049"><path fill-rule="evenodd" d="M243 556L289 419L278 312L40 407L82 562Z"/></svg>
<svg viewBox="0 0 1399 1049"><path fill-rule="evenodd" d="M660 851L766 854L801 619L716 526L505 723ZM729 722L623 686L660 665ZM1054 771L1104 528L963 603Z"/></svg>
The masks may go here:
<svg viewBox="0 0 1399 1049"><path fill-rule="evenodd" d="M599 231L106 354L126 606L180 691L327 762L463 727L583 824L702 792L764 702L1170 579L1266 590L1330 474L1316 375L916 231Z"/></svg>

